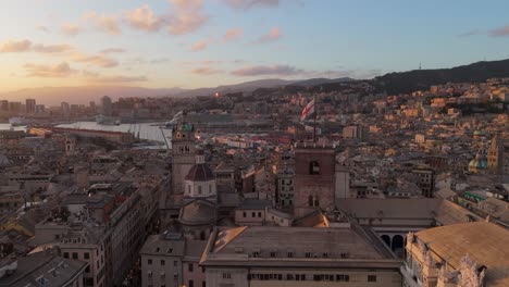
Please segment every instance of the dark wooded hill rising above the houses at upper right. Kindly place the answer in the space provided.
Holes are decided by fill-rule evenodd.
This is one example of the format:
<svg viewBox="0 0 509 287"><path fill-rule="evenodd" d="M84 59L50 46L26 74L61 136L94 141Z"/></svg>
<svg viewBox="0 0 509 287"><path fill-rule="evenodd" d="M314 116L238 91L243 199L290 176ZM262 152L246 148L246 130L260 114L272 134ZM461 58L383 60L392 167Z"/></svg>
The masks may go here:
<svg viewBox="0 0 509 287"><path fill-rule="evenodd" d="M451 68L414 70L389 73L374 78L375 86L388 93L411 92L429 89L446 83L485 82L493 77L509 77L509 59L483 61Z"/></svg>

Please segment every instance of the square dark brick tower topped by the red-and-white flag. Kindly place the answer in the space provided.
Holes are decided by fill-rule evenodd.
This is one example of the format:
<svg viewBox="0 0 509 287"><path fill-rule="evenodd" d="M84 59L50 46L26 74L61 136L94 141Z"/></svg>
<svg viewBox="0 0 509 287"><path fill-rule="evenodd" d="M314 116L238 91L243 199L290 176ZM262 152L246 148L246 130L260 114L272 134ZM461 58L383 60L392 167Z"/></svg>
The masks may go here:
<svg viewBox="0 0 509 287"><path fill-rule="evenodd" d="M295 149L295 214L335 205L335 149L312 142Z"/></svg>

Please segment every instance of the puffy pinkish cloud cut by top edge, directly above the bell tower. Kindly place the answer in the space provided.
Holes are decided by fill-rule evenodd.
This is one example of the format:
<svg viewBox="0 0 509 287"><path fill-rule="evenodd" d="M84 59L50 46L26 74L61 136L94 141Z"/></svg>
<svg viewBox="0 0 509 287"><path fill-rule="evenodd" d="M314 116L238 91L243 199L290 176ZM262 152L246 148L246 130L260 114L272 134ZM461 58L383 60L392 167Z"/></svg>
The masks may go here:
<svg viewBox="0 0 509 287"><path fill-rule="evenodd" d="M209 16L203 13L202 0L170 0L175 8L167 16L167 30L172 35L186 35L201 28Z"/></svg>

